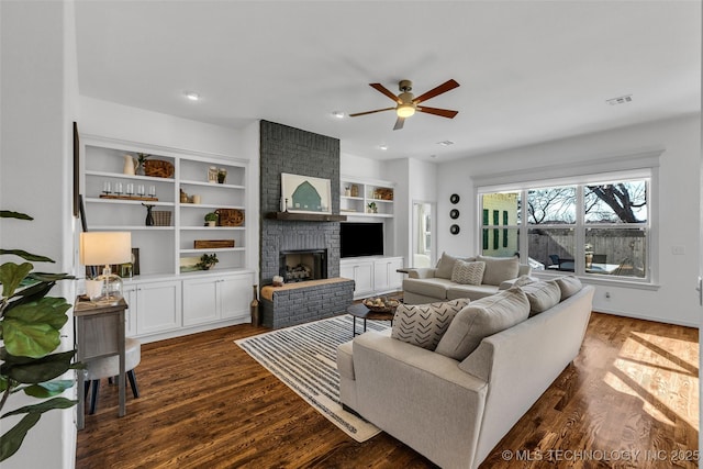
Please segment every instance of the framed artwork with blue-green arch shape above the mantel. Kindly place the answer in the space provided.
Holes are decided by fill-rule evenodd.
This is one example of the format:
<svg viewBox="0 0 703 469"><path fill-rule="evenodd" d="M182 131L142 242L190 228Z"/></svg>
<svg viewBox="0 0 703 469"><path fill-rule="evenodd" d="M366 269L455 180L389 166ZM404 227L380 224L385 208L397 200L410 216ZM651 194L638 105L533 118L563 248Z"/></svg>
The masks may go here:
<svg viewBox="0 0 703 469"><path fill-rule="evenodd" d="M281 198L288 212L332 213L330 179L281 172Z"/></svg>

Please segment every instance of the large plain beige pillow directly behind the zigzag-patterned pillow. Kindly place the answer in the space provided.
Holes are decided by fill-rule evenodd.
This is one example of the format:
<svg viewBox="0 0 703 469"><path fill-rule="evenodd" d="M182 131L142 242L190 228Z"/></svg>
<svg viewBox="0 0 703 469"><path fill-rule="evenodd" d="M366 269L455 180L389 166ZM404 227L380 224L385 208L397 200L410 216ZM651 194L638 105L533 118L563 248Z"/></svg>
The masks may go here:
<svg viewBox="0 0 703 469"><path fill-rule="evenodd" d="M435 351L461 361L484 337L512 327L528 315L529 301L520 287L472 301L451 321Z"/></svg>

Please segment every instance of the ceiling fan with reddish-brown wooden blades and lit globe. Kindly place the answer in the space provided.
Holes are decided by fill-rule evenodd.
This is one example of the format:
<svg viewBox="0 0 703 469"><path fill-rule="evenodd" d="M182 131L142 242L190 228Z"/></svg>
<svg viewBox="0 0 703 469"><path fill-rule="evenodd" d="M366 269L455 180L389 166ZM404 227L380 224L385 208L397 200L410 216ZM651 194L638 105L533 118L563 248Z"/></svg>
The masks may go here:
<svg viewBox="0 0 703 469"><path fill-rule="evenodd" d="M366 115L373 114L375 112L381 111L391 111L395 110L395 114L398 115L398 120L395 121L394 131L403 129L403 124L405 123L405 119L413 115L415 112L426 112L427 114L439 115L442 118L454 119L455 115L459 113L459 111L451 111L449 109L438 109L438 108L427 108L426 105L417 105L423 101L427 101L431 98L436 97L437 94L445 93L449 90L453 90L459 86L455 80L447 80L444 83L439 85L436 88L431 89L424 94L419 96L417 98L413 97L413 93L410 91L413 89L413 82L410 80L401 80L398 82L398 88L400 89L400 94L395 96L388 90L381 83L369 83L369 86L377 91L386 94L393 101L398 103L394 108L384 108L377 109L375 111L367 112L357 112L356 114L349 114L349 118L356 118L357 115Z"/></svg>

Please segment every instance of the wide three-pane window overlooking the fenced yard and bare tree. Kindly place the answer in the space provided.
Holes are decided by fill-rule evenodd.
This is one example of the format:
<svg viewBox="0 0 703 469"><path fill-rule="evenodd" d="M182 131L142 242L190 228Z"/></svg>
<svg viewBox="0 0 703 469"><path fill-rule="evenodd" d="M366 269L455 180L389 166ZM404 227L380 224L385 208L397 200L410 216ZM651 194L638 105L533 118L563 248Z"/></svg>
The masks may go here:
<svg viewBox="0 0 703 469"><path fill-rule="evenodd" d="M650 179L583 179L480 193L483 254L520 253L533 269L649 280Z"/></svg>

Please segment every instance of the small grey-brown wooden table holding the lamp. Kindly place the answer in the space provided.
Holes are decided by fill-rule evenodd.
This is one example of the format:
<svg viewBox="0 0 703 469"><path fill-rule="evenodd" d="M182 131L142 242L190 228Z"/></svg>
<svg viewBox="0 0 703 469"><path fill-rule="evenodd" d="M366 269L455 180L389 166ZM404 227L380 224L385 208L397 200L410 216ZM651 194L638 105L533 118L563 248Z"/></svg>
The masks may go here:
<svg viewBox="0 0 703 469"><path fill-rule="evenodd" d="M76 327L76 359L82 364L96 358L120 356L120 375L118 376L120 392L119 415L124 416L125 411L125 379L124 379L124 310L127 303L120 299L116 304L100 304L91 301L76 299L74 306L74 321ZM82 370L78 371L78 417L76 425L83 429L86 420L85 409L85 381Z"/></svg>

